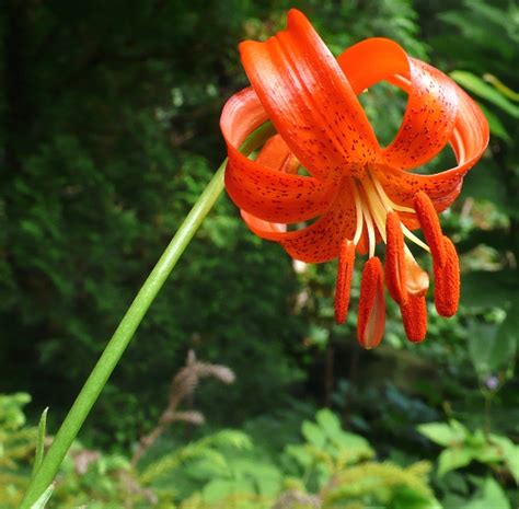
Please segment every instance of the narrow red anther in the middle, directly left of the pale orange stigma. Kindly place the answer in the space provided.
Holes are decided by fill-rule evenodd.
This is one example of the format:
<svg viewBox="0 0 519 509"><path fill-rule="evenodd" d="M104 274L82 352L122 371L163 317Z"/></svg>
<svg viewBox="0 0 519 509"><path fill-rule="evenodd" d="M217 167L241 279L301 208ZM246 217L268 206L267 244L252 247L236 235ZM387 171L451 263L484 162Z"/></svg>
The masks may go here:
<svg viewBox="0 0 519 509"><path fill-rule="evenodd" d="M385 286L395 302L407 300L404 235L399 215L389 212L385 218Z"/></svg>

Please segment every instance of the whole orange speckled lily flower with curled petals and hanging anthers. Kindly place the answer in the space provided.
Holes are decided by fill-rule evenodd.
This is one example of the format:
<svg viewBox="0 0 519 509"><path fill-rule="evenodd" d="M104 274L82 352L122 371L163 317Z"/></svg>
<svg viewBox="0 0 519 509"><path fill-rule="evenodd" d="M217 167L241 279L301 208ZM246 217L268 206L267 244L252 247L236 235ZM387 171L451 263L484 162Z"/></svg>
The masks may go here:
<svg viewBox="0 0 519 509"><path fill-rule="evenodd" d="M368 254L358 309L360 345L372 348L382 339L384 282L401 308L408 339L423 340L429 276L406 243L430 252L436 309L452 316L459 262L438 212L458 197L488 143L482 112L451 79L393 41L369 38L334 58L297 10L289 12L286 31L265 43L246 41L240 51L252 88L228 101L220 124L229 154L226 187L244 221L296 259L338 258L338 323L346 319L356 253ZM380 147L357 99L381 80L408 95L400 130L387 147ZM238 147L267 120L277 134L255 160L241 154ZM455 167L413 173L447 143ZM313 218L299 230L287 228ZM425 242L412 232L418 228ZM387 246L384 268L374 254L380 242Z"/></svg>

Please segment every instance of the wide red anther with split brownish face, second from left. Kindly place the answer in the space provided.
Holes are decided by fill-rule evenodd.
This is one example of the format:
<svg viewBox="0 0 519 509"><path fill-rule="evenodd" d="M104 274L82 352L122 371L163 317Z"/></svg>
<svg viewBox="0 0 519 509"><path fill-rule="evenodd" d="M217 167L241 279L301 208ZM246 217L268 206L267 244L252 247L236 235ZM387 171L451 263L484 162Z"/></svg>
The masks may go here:
<svg viewBox="0 0 519 509"><path fill-rule="evenodd" d="M382 264L377 256L368 259L362 270L357 321L359 344L371 349L380 344L385 327L385 300Z"/></svg>

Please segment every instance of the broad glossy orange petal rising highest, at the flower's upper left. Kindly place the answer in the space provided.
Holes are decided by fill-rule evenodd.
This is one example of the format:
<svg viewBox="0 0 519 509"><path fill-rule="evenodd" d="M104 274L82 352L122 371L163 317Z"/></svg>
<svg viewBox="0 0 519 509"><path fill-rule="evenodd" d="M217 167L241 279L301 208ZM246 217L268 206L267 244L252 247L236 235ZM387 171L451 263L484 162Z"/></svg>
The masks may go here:
<svg viewBox="0 0 519 509"><path fill-rule="evenodd" d="M360 174L379 148L337 61L302 13L265 43L240 45L243 66L270 120L318 178Z"/></svg>

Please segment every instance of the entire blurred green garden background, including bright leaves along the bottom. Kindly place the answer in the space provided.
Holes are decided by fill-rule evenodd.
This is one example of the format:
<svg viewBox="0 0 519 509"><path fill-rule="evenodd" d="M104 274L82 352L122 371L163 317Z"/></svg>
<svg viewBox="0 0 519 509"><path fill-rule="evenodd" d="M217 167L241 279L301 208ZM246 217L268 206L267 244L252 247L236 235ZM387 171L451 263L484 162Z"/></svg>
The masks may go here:
<svg viewBox="0 0 519 509"><path fill-rule="evenodd" d="M42 410L51 435L224 158L219 115L247 84L238 43L284 27L290 7L336 55L391 37L484 108L491 144L442 215L461 257L460 311L445 320L430 306L427 340L410 345L391 301L383 345L364 351L359 274L337 326L335 263L293 265L222 196L48 507L517 507L519 5L509 0L4 0L0 507L20 501ZM391 140L405 96L378 84L361 101ZM451 161L446 150L427 171Z"/></svg>

